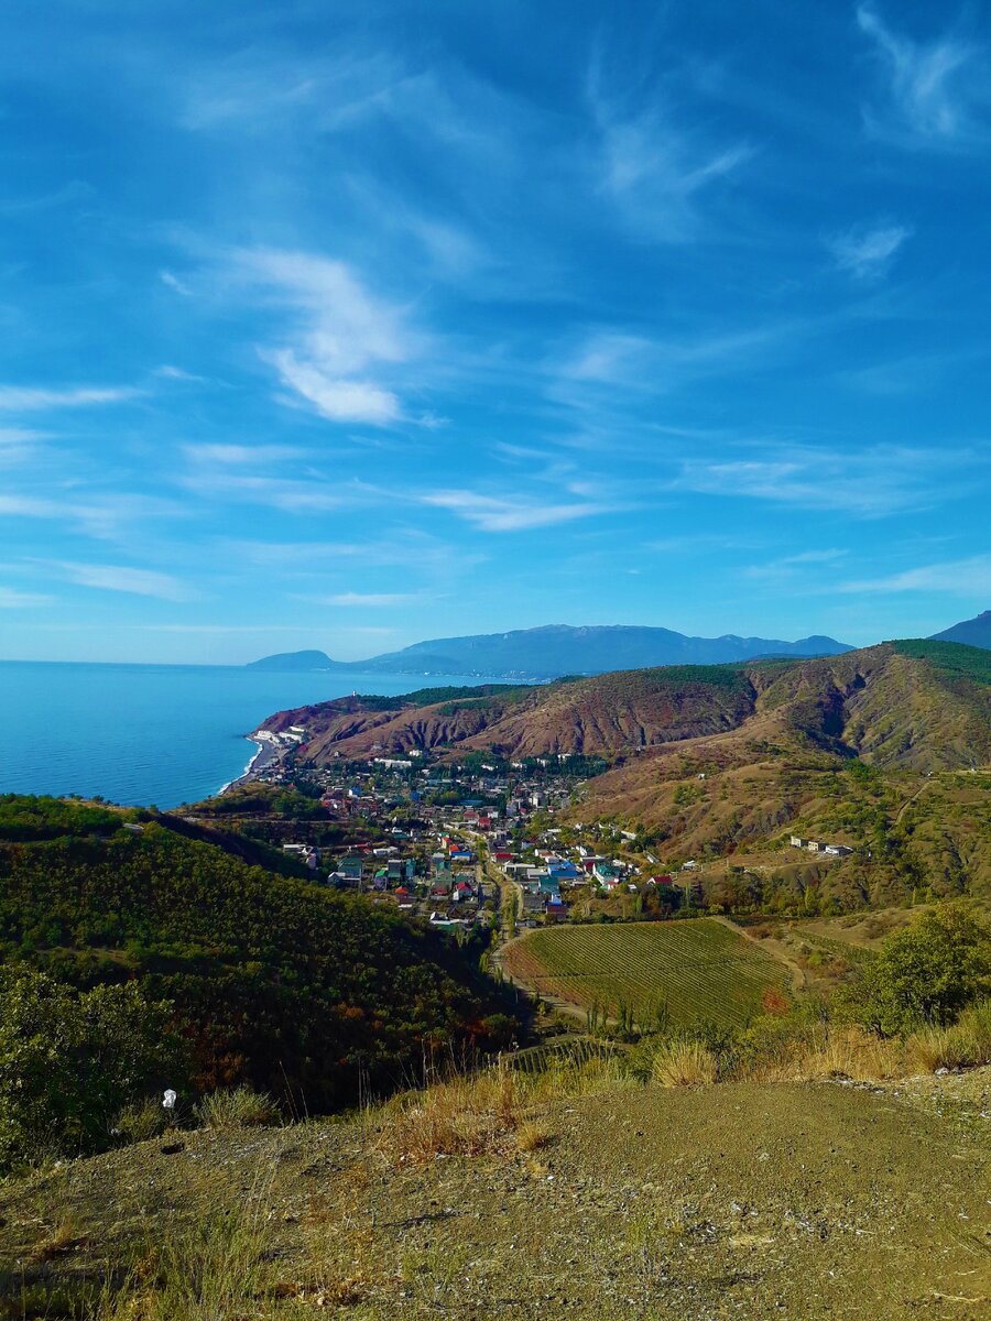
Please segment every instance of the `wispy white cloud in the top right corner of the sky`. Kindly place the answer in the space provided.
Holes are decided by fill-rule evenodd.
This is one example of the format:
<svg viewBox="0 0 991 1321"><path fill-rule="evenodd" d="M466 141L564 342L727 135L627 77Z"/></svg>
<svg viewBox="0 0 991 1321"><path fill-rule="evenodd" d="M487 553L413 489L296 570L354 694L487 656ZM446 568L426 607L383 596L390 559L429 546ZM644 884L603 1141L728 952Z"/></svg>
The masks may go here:
<svg viewBox="0 0 991 1321"><path fill-rule="evenodd" d="M913 41L872 4L856 12L884 71L879 102L864 108L871 132L902 145L965 145L987 139L987 52L959 37Z"/></svg>

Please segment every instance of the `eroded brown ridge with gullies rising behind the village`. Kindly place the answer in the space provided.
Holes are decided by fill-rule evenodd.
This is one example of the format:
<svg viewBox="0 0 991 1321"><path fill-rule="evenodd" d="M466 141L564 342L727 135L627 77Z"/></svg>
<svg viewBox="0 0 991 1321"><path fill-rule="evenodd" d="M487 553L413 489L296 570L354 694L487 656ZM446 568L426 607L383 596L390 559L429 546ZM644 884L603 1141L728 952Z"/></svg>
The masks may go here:
<svg viewBox="0 0 991 1321"><path fill-rule="evenodd" d="M317 764L412 748L616 762L691 742L737 764L754 760L752 744L772 742L929 771L991 760L991 686L950 680L885 643L817 660L629 670L443 701L342 697L266 721L272 731L291 725L307 729L305 756ZM714 745L721 736L725 746Z"/></svg>

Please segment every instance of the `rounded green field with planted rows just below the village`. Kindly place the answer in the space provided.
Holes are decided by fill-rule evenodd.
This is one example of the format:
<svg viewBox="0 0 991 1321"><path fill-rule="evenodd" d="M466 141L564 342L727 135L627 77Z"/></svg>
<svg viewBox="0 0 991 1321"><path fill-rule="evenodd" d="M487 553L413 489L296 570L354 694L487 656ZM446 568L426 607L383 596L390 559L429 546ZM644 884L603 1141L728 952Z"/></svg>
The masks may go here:
<svg viewBox="0 0 991 1321"><path fill-rule="evenodd" d="M571 1004L620 1004L650 1025L666 1005L674 1026L711 1020L743 1026L768 991L785 992L788 970L715 918L625 922L532 931L502 951L505 971Z"/></svg>

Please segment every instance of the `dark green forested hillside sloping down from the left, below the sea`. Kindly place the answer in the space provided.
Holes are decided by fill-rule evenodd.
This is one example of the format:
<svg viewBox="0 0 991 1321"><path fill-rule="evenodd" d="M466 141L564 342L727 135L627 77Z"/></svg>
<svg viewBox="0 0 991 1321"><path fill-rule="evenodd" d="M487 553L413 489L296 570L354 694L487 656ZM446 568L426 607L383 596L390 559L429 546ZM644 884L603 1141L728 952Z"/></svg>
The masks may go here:
<svg viewBox="0 0 991 1321"><path fill-rule="evenodd" d="M0 956L172 1000L198 1086L328 1110L506 1030L477 950L128 815L0 799Z"/></svg>

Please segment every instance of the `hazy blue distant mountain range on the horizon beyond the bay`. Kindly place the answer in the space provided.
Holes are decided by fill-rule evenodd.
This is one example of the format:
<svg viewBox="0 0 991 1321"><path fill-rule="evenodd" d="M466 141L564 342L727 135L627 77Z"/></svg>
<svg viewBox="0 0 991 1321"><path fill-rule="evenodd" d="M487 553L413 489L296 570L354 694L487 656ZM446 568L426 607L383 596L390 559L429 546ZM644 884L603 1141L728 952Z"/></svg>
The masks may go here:
<svg viewBox="0 0 991 1321"><path fill-rule="evenodd" d="M798 642L739 638L731 633L721 638L690 638L671 629L548 624L511 633L433 638L367 660L333 660L324 651L289 651L254 660L250 668L556 679L566 674L591 675L661 664L723 664L758 657L839 655L843 651L852 651L852 647L826 637L799 638Z"/></svg>

